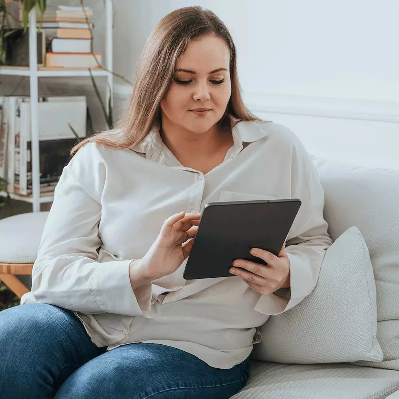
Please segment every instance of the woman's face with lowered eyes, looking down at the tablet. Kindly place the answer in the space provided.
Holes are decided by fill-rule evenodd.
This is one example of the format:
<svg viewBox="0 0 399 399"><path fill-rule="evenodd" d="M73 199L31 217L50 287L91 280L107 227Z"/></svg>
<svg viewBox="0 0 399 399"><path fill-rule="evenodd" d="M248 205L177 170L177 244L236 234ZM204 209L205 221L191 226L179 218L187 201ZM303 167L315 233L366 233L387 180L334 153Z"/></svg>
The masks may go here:
<svg viewBox="0 0 399 399"><path fill-rule="evenodd" d="M208 131L221 119L230 99L229 65L230 51L223 39L205 36L191 41L161 101L162 117L195 133Z"/></svg>

